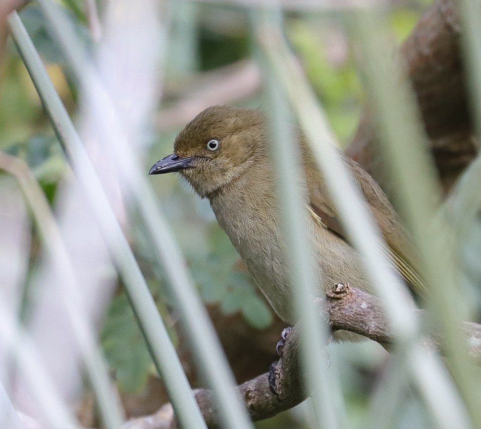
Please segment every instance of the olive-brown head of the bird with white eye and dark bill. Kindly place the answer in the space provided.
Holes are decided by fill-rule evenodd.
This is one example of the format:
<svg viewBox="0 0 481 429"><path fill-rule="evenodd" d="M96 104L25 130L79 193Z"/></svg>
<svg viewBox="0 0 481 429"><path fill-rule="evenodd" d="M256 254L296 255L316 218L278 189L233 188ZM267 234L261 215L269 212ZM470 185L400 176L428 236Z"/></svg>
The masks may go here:
<svg viewBox="0 0 481 429"><path fill-rule="evenodd" d="M174 153L149 174L180 173L201 197L231 183L266 149L261 112L212 106L197 115L175 139Z"/></svg>

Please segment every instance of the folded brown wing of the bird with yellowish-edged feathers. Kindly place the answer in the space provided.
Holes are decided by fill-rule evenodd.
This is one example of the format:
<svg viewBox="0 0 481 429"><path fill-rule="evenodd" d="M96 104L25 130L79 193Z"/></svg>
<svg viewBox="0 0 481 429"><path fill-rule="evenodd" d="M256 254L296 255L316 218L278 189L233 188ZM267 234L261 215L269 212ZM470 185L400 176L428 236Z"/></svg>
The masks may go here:
<svg viewBox="0 0 481 429"><path fill-rule="evenodd" d="M416 252L407 239L407 234L399 223L396 212L379 185L369 177L368 173L349 157L345 157L345 160L366 197L374 219L384 237L385 243L379 245L382 247L387 261L399 271L413 291L426 299L428 290L416 268L418 265ZM307 167L306 170L311 215L324 228L328 228L347 241L339 218L334 212L334 206L327 199L328 193L317 169Z"/></svg>

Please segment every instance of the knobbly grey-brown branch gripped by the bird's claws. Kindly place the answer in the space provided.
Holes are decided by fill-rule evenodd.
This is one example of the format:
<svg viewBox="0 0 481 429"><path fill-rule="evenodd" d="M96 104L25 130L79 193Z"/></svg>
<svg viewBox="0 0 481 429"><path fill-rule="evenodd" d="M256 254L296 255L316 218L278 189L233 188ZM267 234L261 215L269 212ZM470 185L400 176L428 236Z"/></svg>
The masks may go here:
<svg viewBox="0 0 481 429"><path fill-rule="evenodd" d="M325 300L319 300L325 308L325 314L331 329L355 332L382 345L389 344L391 334L383 308L379 300L347 283L335 285L326 294ZM417 315L424 310L413 309ZM481 325L465 322L462 327L466 336L469 354L481 364ZM436 335L432 342L438 345ZM303 388L298 370L298 335L293 328L284 345L283 356L276 367L276 390L273 395L268 387L267 373L246 381L238 389L244 399L252 420L264 420L281 411L290 409L303 402L307 391ZM220 427L215 411L212 392L207 389L195 391L195 397L209 428ZM174 429L175 419L170 404L164 405L156 414L130 421L124 429Z"/></svg>

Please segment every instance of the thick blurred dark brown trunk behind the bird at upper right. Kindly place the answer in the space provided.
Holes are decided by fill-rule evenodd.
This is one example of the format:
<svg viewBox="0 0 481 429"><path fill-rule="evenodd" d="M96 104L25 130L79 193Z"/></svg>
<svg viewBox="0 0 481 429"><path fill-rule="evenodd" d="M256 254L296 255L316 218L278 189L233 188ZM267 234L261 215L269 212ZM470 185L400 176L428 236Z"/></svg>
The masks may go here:
<svg viewBox="0 0 481 429"><path fill-rule="evenodd" d="M401 47L427 131L431 153L447 191L477 150L465 92L460 23L454 0L436 0ZM373 113L367 108L346 153L381 185L385 176L375 155Z"/></svg>

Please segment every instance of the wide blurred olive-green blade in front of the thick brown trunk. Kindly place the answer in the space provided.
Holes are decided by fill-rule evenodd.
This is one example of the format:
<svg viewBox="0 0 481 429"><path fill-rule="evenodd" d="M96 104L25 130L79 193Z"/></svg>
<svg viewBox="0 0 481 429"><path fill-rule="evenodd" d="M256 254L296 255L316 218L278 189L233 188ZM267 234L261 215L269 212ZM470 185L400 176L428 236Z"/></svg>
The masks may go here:
<svg viewBox="0 0 481 429"><path fill-rule="evenodd" d="M391 62L384 23L375 12L349 15L349 24L362 46L366 81L379 120L381 154L389 165L413 237L425 261L425 277L431 291L429 309L433 323L442 333L446 364L451 371L471 416L481 428L479 407L480 374L468 363L461 322L468 315L458 287L460 273L454 260L450 226L435 217L440 194L435 183L428 145L416 104L407 84L399 83L399 65Z"/></svg>

